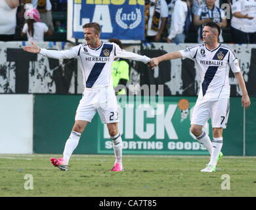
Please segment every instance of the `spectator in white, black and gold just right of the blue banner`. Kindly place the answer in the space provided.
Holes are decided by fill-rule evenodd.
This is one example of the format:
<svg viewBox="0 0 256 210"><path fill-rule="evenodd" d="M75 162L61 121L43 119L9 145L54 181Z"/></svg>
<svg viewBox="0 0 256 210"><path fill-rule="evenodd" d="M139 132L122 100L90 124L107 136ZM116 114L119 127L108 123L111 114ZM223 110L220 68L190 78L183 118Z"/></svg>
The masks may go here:
<svg viewBox="0 0 256 210"><path fill-rule="evenodd" d="M145 3L146 4L146 3ZM168 17L168 7L165 0L150 0L144 6L146 41L161 41Z"/></svg>

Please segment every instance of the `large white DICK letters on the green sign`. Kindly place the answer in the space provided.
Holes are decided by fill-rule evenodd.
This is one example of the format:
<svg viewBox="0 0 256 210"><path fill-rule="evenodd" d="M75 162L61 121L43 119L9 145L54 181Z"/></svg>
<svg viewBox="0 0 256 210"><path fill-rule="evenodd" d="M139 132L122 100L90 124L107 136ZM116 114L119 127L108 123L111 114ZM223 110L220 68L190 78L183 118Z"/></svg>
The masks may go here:
<svg viewBox="0 0 256 210"><path fill-rule="evenodd" d="M164 104L157 104L156 110L149 104L140 104L135 110L134 104L126 104L125 110L119 106L119 133L122 135L124 132L125 139L133 139L134 134L141 139L149 139L155 134L156 139L165 139L166 131L169 139L179 139L171 121L176 109L177 104L169 104L166 112ZM123 112L125 112L125 116L123 116ZM153 123L148 123L145 118L154 118L155 120ZM124 126L123 121L125 121ZM110 138L106 125L104 125L104 138Z"/></svg>

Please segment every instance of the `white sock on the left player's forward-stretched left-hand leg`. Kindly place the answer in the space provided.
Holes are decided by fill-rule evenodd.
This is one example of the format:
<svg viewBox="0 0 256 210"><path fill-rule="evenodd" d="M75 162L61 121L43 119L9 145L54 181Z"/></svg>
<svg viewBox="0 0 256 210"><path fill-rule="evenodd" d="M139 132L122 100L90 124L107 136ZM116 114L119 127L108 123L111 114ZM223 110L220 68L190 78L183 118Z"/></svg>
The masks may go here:
<svg viewBox="0 0 256 210"><path fill-rule="evenodd" d="M77 147L80 137L81 137L81 133L72 131L70 134L70 137L66 141L64 152L63 152L63 159L66 161L67 164L68 164L68 161L70 161L70 157L73 151Z"/></svg>

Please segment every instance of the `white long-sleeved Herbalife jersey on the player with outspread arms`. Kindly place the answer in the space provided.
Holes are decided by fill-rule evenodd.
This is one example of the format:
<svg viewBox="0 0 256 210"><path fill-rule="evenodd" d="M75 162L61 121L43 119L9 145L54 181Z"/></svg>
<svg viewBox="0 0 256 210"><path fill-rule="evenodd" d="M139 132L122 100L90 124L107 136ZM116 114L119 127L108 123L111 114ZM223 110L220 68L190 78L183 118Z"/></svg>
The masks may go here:
<svg viewBox="0 0 256 210"><path fill-rule="evenodd" d="M150 58L120 49L115 43L101 41L97 49L83 43L66 51L41 49L40 54L50 58L77 58L83 72L83 83L87 88L113 87L111 67L114 58L127 58L146 64Z"/></svg>

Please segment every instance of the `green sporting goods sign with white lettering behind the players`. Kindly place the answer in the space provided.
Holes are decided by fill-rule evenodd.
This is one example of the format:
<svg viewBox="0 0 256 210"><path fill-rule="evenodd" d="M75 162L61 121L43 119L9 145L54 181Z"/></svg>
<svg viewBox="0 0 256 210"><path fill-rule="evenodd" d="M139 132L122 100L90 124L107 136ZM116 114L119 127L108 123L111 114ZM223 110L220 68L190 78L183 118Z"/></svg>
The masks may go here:
<svg viewBox="0 0 256 210"><path fill-rule="evenodd" d="M152 98L137 96L125 106L119 103L123 154L208 154L190 133L196 98L172 97L167 101L158 101L158 98L152 101ZM112 153L106 125L100 130L98 153ZM211 137L209 122L203 130Z"/></svg>

